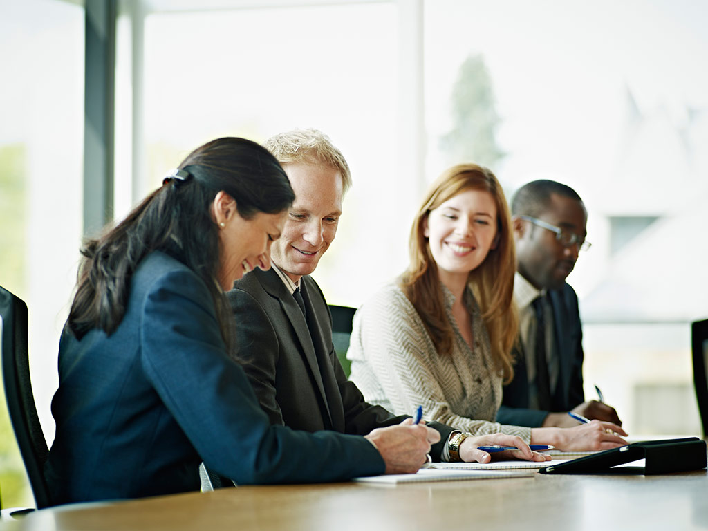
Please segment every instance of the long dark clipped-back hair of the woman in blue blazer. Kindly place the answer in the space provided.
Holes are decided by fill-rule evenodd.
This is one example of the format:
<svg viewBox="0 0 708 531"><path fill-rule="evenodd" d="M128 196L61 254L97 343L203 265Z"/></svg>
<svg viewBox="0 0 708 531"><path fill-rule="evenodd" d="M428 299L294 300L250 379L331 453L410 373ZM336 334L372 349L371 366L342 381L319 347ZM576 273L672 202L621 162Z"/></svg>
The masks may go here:
<svg viewBox="0 0 708 531"><path fill-rule="evenodd" d="M211 205L219 190L236 200L244 219L275 214L292 205L295 193L285 171L265 148L243 138L212 140L180 164L178 178L166 179L125 219L81 248L69 329L81 338L92 329L110 336L125 314L130 280L152 251L164 251L204 280L214 299L227 346L231 326L217 274L219 227Z"/></svg>

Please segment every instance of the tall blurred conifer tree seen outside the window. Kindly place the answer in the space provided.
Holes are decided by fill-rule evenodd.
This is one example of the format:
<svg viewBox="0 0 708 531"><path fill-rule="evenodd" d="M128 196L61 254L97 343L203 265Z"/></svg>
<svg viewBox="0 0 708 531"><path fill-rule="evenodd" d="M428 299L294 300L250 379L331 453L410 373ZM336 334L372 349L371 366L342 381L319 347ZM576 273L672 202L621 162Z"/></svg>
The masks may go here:
<svg viewBox="0 0 708 531"><path fill-rule="evenodd" d="M476 162L493 169L504 156L495 139L501 120L481 55L470 55L459 67L452 88L452 120L452 130L440 139L440 148L447 152L450 164Z"/></svg>

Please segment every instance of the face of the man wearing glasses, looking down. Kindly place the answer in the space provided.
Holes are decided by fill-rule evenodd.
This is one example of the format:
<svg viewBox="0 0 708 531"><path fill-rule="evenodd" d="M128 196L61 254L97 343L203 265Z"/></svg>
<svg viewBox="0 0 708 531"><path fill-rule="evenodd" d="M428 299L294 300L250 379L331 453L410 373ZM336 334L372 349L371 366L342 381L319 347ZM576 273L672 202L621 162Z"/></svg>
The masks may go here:
<svg viewBox="0 0 708 531"><path fill-rule="evenodd" d="M588 213L583 202L552 193L548 207L538 216L566 232L587 234ZM553 232L522 219L514 220L518 271L537 289L557 290L578 260L578 246L564 246Z"/></svg>

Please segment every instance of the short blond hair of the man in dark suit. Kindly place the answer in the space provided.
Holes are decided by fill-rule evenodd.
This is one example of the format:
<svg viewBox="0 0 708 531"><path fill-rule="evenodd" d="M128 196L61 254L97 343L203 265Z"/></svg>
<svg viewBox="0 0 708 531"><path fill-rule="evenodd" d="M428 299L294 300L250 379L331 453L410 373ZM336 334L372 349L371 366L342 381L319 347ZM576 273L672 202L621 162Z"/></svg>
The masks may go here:
<svg viewBox="0 0 708 531"><path fill-rule="evenodd" d="M342 176L344 193L352 185L351 171L344 155L332 144L329 137L319 130L293 129L278 133L266 140L263 145L280 164L290 162L321 164L337 170Z"/></svg>

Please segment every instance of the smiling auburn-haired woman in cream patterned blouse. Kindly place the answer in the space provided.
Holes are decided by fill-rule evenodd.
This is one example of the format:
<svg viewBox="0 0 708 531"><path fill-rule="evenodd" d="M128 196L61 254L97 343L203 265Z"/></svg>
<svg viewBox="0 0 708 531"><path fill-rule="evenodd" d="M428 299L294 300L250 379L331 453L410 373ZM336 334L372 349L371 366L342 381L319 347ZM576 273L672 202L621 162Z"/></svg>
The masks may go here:
<svg viewBox="0 0 708 531"><path fill-rule="evenodd" d="M510 215L494 174L447 169L413 221L411 263L355 314L347 357L367 401L389 411L418 404L464 435L503 432L561 450L625 444L612 423L527 428L494 422L513 377L515 254ZM457 440L456 442L461 442Z"/></svg>

